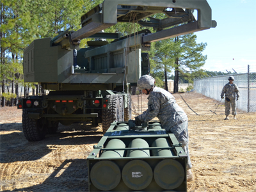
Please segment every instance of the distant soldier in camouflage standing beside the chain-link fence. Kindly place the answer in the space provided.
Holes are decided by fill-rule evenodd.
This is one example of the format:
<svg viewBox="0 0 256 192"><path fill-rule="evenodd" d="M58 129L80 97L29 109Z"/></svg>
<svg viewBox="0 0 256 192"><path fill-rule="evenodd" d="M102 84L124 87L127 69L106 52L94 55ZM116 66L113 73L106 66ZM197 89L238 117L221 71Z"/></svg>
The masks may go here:
<svg viewBox="0 0 256 192"><path fill-rule="evenodd" d="M228 77L229 83L225 84L223 90L221 92L221 99L224 99L225 93L225 120L228 120L228 115L230 113L230 105L232 106L232 115L234 115L234 119L236 119L236 100L239 98L239 90L236 84L234 84L234 77Z"/></svg>

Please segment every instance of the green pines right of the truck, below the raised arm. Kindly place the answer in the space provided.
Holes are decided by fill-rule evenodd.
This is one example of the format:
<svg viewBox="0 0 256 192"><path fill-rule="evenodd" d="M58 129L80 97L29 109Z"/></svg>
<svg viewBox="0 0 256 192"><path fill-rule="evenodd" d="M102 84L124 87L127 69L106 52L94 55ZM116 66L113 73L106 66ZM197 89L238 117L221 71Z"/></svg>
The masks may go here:
<svg viewBox="0 0 256 192"><path fill-rule="evenodd" d="M179 91L179 76L192 82L196 76L204 73L200 67L204 65L207 58L202 55L206 45L206 43L196 44L196 35L193 33L156 43L155 60L159 65L154 70L162 77L163 81L163 78L168 79L168 72L170 73L174 69L173 93Z"/></svg>

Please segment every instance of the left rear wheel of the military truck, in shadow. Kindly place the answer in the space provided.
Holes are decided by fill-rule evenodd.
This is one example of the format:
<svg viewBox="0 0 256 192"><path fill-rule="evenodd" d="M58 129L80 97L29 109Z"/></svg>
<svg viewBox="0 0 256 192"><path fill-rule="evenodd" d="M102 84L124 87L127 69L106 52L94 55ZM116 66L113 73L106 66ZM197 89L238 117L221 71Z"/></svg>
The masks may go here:
<svg viewBox="0 0 256 192"><path fill-rule="evenodd" d="M42 122L42 118L36 120L28 117L28 109L22 111L22 128L24 136L28 141L43 140L46 134L46 127Z"/></svg>

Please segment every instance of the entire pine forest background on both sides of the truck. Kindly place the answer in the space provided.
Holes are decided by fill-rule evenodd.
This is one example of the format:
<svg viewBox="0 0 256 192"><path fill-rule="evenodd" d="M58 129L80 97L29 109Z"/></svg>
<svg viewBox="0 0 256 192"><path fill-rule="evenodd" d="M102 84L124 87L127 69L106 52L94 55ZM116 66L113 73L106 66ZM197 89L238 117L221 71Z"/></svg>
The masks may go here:
<svg viewBox="0 0 256 192"><path fill-rule="evenodd" d="M23 81L24 49L35 39L54 37L68 28L74 31L81 28L81 16L102 1L1 0L1 106L5 106L6 100L8 106L17 102L20 84L24 86L24 93L32 88L33 95L38 94L38 91L35 92L38 84ZM153 17L163 19L166 15L159 13ZM127 36L142 29L139 24L130 22L118 23L104 32ZM154 32L154 29L150 31ZM80 47L87 47L88 40L91 39L81 40ZM202 54L206 45L196 44L196 35L193 33L152 43L149 52L150 74L156 79L156 85L164 87L167 79L173 79L174 90L168 91L176 93L179 91L179 83L193 83L196 77L212 74L201 68L207 60L207 56Z"/></svg>

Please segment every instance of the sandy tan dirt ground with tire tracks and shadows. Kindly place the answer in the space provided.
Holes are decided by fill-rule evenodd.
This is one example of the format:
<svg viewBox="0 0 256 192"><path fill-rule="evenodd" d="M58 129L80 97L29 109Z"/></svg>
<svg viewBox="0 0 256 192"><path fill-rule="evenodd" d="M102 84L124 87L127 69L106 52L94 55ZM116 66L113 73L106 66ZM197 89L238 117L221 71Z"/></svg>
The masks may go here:
<svg viewBox="0 0 256 192"><path fill-rule="evenodd" d="M256 113L238 110L237 120L223 120L217 100L193 92L173 96L189 118L195 180L188 191L256 191ZM147 95L132 96L134 106L138 100L147 109ZM0 108L0 190L88 191L86 157L102 137L101 126L60 124L57 134L28 142L21 115L15 107Z"/></svg>

